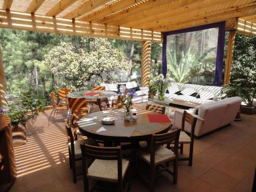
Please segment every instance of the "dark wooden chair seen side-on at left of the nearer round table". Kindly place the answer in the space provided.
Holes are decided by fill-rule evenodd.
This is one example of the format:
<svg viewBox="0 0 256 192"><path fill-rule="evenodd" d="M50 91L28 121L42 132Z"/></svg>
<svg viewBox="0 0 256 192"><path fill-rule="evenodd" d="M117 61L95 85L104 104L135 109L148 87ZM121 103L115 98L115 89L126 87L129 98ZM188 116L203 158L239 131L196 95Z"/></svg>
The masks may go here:
<svg viewBox="0 0 256 192"><path fill-rule="evenodd" d="M76 171L76 161L82 160L82 153L80 144L91 144L98 145L94 139L80 139L74 140L71 127L69 126L68 120L65 120L65 126L68 136L68 146L69 146L69 166L73 171L73 182L76 183L76 176L81 175L82 173L77 173ZM98 145L99 146L99 145Z"/></svg>

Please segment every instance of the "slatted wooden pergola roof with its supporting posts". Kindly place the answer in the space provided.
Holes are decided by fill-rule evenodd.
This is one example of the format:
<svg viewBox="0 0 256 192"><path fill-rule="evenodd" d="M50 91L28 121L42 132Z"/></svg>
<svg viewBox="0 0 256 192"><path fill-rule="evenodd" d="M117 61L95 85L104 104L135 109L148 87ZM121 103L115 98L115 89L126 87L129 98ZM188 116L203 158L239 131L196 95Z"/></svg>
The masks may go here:
<svg viewBox="0 0 256 192"><path fill-rule="evenodd" d="M151 42L162 42L163 32L223 21L230 31L227 83L234 33L256 35L255 0L0 0L0 28L142 41L142 86L150 74ZM0 55L0 94L5 92Z"/></svg>

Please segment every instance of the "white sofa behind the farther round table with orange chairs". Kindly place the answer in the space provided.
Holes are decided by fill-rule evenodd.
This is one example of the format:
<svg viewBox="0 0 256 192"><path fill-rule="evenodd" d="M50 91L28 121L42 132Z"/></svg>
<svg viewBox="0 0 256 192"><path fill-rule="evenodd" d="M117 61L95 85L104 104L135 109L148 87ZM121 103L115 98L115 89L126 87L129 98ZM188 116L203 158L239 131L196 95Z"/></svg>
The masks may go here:
<svg viewBox="0 0 256 192"><path fill-rule="evenodd" d="M138 84L135 81L112 84L101 83L100 86L104 86L106 91L119 92L118 86L122 84L125 85L127 89L138 89L137 91L135 91L137 96L133 98L133 103L141 103L148 101L149 89L147 87L138 87Z"/></svg>

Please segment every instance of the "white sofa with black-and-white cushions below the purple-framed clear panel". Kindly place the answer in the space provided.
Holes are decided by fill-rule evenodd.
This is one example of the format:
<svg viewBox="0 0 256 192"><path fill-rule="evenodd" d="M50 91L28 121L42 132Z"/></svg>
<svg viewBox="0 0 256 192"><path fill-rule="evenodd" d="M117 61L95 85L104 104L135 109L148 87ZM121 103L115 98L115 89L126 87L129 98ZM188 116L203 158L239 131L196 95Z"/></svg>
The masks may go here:
<svg viewBox="0 0 256 192"><path fill-rule="evenodd" d="M195 90L194 92L196 92L196 96L198 96L200 94L204 94L204 97L207 99L196 98L196 96L190 96L190 95L175 94L178 91L181 91L181 92L184 91L186 88ZM191 108L195 108L196 106L198 106L200 104L203 104L206 102L214 102L214 101L219 100L221 98L221 89L222 89L222 87L201 86L198 84L183 84L183 83L173 82L167 88L169 93L165 93L164 101L172 103L172 104L179 104L179 105L184 105L184 106L189 106Z"/></svg>

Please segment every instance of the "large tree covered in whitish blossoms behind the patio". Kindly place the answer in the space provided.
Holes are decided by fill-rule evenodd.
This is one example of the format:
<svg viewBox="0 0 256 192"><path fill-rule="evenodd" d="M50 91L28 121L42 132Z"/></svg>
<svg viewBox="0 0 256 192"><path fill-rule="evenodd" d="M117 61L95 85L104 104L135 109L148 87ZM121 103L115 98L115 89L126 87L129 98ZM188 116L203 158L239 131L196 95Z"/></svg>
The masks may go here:
<svg viewBox="0 0 256 192"><path fill-rule="evenodd" d="M85 37L81 42L89 48L76 49L74 45L62 42L49 52L45 62L58 86L83 90L88 81L92 84L116 82L131 69L124 53L114 49L107 39Z"/></svg>

